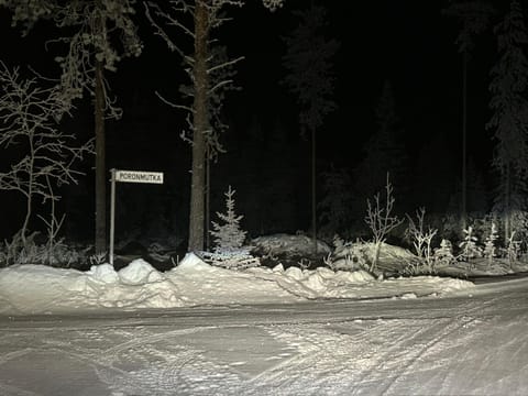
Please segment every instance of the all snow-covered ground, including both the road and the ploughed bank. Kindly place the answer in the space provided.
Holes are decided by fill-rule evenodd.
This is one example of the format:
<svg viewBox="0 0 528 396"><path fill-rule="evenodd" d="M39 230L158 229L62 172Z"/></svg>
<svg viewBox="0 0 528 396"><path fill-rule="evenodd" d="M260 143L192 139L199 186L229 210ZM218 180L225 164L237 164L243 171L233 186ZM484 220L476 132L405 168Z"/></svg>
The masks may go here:
<svg viewBox="0 0 528 396"><path fill-rule="evenodd" d="M0 395L526 395L528 279L0 270Z"/></svg>

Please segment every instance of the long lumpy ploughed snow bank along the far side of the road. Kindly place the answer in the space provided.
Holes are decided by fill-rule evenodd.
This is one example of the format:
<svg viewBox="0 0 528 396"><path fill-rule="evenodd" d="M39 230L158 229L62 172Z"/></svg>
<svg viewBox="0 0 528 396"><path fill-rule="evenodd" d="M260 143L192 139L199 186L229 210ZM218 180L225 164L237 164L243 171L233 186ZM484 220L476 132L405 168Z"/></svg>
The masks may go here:
<svg viewBox="0 0 528 396"><path fill-rule="evenodd" d="M363 271L333 272L326 267L285 271L278 265L231 271L210 266L189 253L167 273L157 272L141 258L119 272L109 264L85 273L42 265L2 268L0 314L425 296L472 287L469 282L433 276L378 280Z"/></svg>

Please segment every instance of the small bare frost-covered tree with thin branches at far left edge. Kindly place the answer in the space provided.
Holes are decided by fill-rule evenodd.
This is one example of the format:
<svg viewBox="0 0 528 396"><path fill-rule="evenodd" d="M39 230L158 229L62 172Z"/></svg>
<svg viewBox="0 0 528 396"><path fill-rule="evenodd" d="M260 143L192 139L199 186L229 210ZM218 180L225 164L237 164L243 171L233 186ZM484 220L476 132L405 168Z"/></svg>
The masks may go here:
<svg viewBox="0 0 528 396"><path fill-rule="evenodd" d="M74 165L92 151L91 141L78 145L74 135L59 130L67 105L59 86L43 88L36 78L22 79L19 69L0 63L0 147L14 148L16 155L10 168L0 172L0 190L25 199L19 231L24 248L35 200L58 200L53 186L76 184L81 173Z"/></svg>

